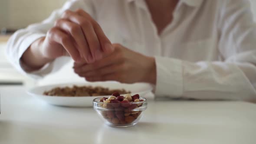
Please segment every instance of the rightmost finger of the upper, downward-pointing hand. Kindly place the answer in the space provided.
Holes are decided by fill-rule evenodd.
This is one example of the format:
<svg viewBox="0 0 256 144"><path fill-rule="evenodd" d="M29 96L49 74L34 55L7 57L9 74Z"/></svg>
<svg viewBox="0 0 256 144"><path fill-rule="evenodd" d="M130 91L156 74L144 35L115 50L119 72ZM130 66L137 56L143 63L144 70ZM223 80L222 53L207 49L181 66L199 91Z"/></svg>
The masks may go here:
<svg viewBox="0 0 256 144"><path fill-rule="evenodd" d="M95 20L93 20L93 18L84 10L79 9L76 11L76 13L79 13L79 15L81 16L87 17L91 21L103 52L105 53L113 52L114 47L112 46L110 40L107 38L107 36L103 32L99 24Z"/></svg>

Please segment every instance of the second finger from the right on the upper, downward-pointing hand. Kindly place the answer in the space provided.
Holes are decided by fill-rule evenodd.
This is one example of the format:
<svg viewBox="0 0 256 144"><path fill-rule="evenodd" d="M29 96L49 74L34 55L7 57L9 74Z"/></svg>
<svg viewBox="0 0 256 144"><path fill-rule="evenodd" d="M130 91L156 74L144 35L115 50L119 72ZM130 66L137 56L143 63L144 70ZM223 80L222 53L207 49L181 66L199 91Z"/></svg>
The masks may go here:
<svg viewBox="0 0 256 144"><path fill-rule="evenodd" d="M81 26L83 34L85 35L85 39L87 40L87 43L89 45L93 61L101 59L102 50L100 48L98 37L93 29L90 20L72 11L66 11L62 18L69 19L70 21L77 23L79 24L79 26Z"/></svg>

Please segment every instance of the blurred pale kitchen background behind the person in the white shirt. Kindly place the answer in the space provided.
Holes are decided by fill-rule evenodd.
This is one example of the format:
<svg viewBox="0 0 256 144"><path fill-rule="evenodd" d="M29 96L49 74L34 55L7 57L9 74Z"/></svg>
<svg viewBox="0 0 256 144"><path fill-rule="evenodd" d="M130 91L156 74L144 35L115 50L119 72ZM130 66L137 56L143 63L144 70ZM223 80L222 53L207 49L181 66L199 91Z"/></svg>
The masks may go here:
<svg viewBox="0 0 256 144"><path fill-rule="evenodd" d="M46 19L53 10L62 7L66 0L0 0L0 85L34 85L32 79L17 72L5 57L7 39L20 28L25 28L31 23L37 23ZM256 0L250 0L254 20L256 20ZM54 82L69 82L69 79L61 79L72 72L70 66L66 65L61 72L49 75L41 80L41 84ZM56 76L57 75L57 76ZM59 77L59 79L56 79ZM79 79L78 81L84 81ZM73 81L73 79L72 79ZM40 84L40 83L39 83Z"/></svg>

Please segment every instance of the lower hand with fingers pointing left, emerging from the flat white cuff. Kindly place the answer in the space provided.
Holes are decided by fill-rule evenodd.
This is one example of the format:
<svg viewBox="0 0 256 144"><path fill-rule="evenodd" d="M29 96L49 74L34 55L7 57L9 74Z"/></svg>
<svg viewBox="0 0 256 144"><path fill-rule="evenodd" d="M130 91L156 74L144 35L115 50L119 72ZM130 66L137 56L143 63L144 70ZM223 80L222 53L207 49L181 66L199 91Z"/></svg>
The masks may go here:
<svg viewBox="0 0 256 144"><path fill-rule="evenodd" d="M74 71L87 81L118 81L122 83L156 83L153 57L113 44L114 52L94 63L74 63Z"/></svg>

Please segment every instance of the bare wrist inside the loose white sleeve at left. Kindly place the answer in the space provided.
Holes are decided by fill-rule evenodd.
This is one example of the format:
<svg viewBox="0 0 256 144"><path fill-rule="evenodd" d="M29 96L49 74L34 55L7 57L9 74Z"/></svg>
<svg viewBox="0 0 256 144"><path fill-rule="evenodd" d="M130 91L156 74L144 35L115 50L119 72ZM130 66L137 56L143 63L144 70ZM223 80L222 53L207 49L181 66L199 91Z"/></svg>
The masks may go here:
<svg viewBox="0 0 256 144"><path fill-rule="evenodd" d="M45 37L37 39L34 43L30 45L28 49L23 53L21 61L27 68L27 71L38 70L43 67L48 62L51 62L52 59L47 59L43 56L41 52L41 47Z"/></svg>

